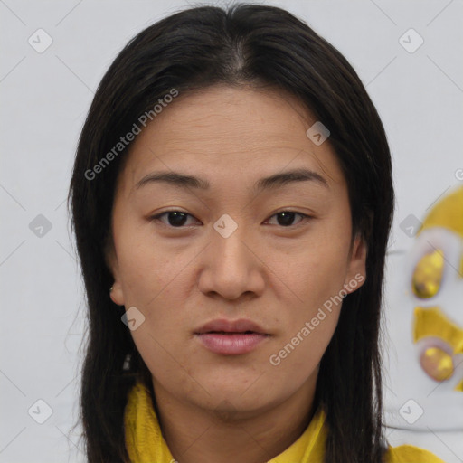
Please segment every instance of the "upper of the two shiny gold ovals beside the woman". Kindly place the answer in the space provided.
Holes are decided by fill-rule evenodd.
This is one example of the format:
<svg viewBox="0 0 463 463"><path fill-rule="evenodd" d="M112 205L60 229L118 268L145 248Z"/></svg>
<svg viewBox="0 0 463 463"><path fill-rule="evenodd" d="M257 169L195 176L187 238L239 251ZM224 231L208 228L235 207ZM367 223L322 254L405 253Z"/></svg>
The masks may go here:
<svg viewBox="0 0 463 463"><path fill-rule="evenodd" d="M444 272L444 253L434 250L423 256L413 272L413 292L421 299L436 296L440 289L442 274Z"/></svg>

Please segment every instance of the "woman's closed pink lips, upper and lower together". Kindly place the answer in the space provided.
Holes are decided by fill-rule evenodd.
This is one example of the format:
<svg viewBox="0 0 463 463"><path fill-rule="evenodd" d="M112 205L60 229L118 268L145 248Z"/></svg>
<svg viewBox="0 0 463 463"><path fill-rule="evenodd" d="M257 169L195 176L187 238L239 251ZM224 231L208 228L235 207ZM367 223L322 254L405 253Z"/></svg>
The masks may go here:
<svg viewBox="0 0 463 463"><path fill-rule="evenodd" d="M269 334L250 320L213 320L195 330L194 335L204 347L215 354L247 354L263 342Z"/></svg>

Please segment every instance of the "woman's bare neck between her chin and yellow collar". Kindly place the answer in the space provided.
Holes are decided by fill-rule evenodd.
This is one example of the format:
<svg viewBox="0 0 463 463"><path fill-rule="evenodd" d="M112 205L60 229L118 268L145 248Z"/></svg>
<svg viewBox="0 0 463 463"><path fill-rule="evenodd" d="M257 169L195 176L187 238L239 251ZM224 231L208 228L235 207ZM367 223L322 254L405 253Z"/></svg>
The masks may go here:
<svg viewBox="0 0 463 463"><path fill-rule="evenodd" d="M315 407L317 372L285 402L265 411L236 411L230 402L210 409L180 402L153 380L158 420L175 460L181 463L264 463L306 430Z"/></svg>

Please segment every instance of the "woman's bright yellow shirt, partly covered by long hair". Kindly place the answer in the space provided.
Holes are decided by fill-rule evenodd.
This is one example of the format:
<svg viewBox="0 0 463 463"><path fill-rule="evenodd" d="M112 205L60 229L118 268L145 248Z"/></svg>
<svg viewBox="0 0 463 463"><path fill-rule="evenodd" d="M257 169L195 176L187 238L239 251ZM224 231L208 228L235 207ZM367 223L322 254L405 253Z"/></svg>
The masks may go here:
<svg viewBox="0 0 463 463"><path fill-rule="evenodd" d="M325 453L326 415L317 411L304 433L268 463L322 463ZM126 446L132 463L175 463L153 409L150 393L137 383L128 394L124 424ZM410 445L390 447L387 463L444 463L427 450Z"/></svg>

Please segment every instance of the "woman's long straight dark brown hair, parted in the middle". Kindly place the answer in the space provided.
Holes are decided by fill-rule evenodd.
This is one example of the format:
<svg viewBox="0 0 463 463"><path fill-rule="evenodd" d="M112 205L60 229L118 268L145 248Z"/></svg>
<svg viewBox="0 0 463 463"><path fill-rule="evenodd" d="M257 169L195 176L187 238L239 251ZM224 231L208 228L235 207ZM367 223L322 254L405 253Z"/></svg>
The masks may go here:
<svg viewBox="0 0 463 463"><path fill-rule="evenodd" d="M379 463L385 444L378 344L394 199L383 124L340 52L287 11L246 4L189 8L138 33L101 80L82 128L68 206L89 308L80 396L88 461L128 461L128 390L137 378L151 383L121 322L124 307L109 298L113 279L105 260L115 184L130 145L94 178L88 173L170 90L186 95L214 84L291 94L331 132L348 185L353 237L364 237L368 254L364 286L345 297L322 358L316 400L329 427L325 462Z"/></svg>

